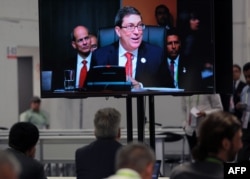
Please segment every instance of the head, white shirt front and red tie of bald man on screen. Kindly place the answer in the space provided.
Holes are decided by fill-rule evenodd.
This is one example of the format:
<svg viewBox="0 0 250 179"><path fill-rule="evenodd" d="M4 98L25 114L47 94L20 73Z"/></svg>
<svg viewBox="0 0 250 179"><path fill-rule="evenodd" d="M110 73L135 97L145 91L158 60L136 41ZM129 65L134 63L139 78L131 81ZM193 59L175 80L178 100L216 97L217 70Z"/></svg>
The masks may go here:
<svg viewBox="0 0 250 179"><path fill-rule="evenodd" d="M75 88L83 88L86 78L81 79L81 71L89 70L91 63L91 41L88 28L76 26L71 33L71 45L77 51L77 56L70 60L71 67L75 69Z"/></svg>

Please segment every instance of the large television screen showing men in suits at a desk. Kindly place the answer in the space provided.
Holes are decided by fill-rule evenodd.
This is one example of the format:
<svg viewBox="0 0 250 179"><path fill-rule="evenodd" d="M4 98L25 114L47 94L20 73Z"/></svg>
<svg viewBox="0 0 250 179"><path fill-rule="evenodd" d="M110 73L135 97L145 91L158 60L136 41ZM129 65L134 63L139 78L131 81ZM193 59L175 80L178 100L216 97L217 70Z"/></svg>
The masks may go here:
<svg viewBox="0 0 250 179"><path fill-rule="evenodd" d="M172 0L171 5L152 5L148 0L131 4L142 18L135 14L135 22L125 16L119 24L115 17L126 3L39 0L42 97L230 91L231 1ZM222 7L225 13L217 17ZM147 8L152 15L144 18ZM227 33L220 31L226 28ZM98 40L93 49L91 36ZM224 80L218 68L227 71L228 78Z"/></svg>

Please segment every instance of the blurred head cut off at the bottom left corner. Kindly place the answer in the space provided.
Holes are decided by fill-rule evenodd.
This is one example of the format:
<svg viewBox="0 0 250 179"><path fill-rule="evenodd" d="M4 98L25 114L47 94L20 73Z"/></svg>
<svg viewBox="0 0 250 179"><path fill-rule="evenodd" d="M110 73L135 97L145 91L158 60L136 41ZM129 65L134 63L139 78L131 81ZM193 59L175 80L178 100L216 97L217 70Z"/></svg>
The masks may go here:
<svg viewBox="0 0 250 179"><path fill-rule="evenodd" d="M18 179L20 166L9 153L0 150L0 179Z"/></svg>

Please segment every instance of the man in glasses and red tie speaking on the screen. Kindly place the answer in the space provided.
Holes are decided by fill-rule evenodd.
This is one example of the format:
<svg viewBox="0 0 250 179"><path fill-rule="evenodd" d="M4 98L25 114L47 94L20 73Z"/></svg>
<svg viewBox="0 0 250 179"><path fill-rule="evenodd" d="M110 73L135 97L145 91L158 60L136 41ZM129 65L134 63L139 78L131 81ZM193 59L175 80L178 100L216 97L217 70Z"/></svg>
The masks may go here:
<svg viewBox="0 0 250 179"><path fill-rule="evenodd" d="M119 41L94 51L92 65L116 65L126 68L127 81L134 88L160 86L159 68L163 61L160 47L142 41L140 12L134 7L121 8L115 17L115 32ZM171 80L171 77L166 76Z"/></svg>

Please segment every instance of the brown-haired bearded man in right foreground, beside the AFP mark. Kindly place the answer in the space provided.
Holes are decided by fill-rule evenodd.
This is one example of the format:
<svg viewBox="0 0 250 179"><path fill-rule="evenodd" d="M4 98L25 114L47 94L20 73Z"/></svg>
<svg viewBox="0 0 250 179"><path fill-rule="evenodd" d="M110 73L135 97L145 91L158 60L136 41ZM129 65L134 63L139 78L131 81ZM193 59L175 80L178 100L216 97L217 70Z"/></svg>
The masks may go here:
<svg viewBox="0 0 250 179"><path fill-rule="evenodd" d="M192 152L195 162L174 168L170 179L223 179L223 163L235 160L242 147L241 124L227 112L208 115L199 133L199 143Z"/></svg>

